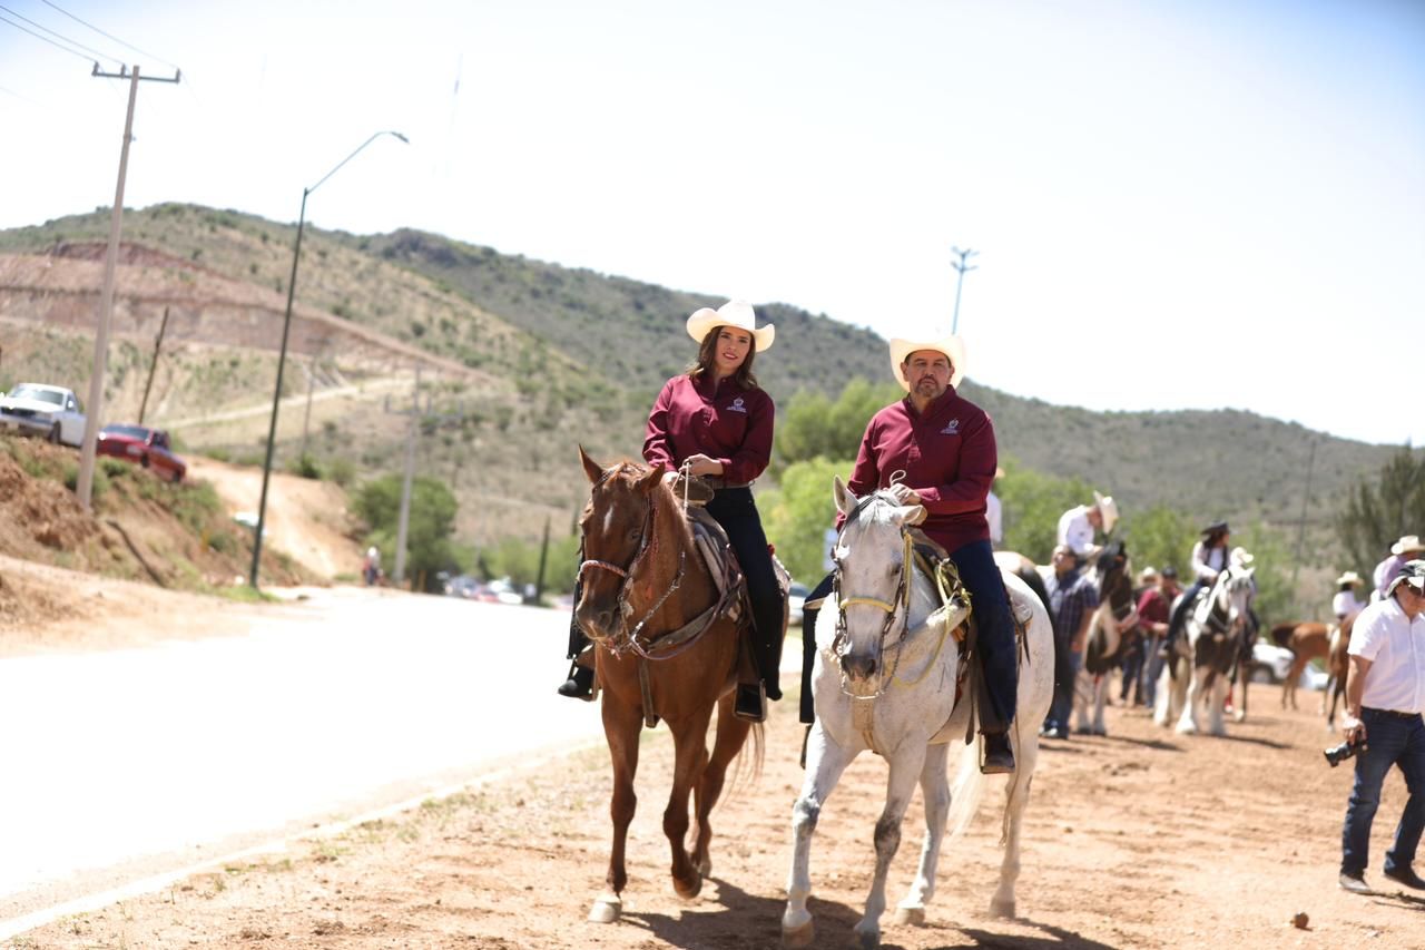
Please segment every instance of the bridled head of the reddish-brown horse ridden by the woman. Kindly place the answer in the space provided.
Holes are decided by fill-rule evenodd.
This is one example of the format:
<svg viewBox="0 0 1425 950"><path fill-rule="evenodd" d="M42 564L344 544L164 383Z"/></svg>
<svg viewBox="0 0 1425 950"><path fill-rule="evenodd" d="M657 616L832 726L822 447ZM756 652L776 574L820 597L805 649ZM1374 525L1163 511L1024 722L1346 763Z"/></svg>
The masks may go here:
<svg viewBox="0 0 1425 950"><path fill-rule="evenodd" d="M583 591L574 618L593 639L611 639L623 628L630 579L650 551L653 515L660 504L663 472L634 462L603 468L579 448L584 474L593 484L579 523L584 561L579 566Z"/></svg>

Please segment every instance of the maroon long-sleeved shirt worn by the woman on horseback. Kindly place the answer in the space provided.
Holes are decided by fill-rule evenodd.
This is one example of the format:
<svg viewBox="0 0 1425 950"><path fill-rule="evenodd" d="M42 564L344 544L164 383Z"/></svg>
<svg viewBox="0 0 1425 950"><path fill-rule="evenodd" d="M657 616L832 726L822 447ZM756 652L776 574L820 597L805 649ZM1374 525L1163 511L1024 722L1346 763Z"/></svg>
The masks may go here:
<svg viewBox="0 0 1425 950"><path fill-rule="evenodd" d="M750 482L772 458L772 419L777 408L762 389L744 389L731 377L714 389L711 377L673 377L648 414L643 458L675 471L701 452L722 462L722 481Z"/></svg>

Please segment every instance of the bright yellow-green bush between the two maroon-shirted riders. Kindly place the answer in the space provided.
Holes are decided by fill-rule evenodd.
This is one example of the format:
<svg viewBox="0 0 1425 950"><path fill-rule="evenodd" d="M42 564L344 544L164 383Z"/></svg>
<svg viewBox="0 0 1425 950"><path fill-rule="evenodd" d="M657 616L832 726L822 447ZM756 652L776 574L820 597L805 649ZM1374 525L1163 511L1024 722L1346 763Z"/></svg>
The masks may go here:
<svg viewBox="0 0 1425 950"><path fill-rule="evenodd" d="M767 538L777 548L794 578L812 585L826 573L822 561L826 553L826 529L836 523L836 502L832 501L832 478L851 475L849 459L814 458L795 462L782 472L781 489L758 496Z"/></svg>

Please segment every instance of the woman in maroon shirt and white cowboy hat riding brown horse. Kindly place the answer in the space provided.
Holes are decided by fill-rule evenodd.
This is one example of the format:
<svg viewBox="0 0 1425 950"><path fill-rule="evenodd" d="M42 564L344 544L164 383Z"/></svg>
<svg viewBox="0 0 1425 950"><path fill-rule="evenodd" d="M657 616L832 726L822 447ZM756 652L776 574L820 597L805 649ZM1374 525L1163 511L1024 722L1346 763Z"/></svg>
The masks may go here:
<svg viewBox="0 0 1425 950"><path fill-rule="evenodd" d="M757 385L752 361L772 345L777 328L758 328L751 304L742 301L728 301L718 310L704 307L688 317L687 328L698 341L698 358L658 392L648 414L643 456L667 472L667 481L683 468L714 489L707 512L727 531L747 579L752 652L762 680L761 689L738 686L735 712L761 722L767 716L764 696L782 696L777 670L784 628L782 592L751 489L771 459L775 407ZM570 625L569 639L571 659L589 645L577 623ZM591 699L593 685L594 670L576 660L559 692Z"/></svg>

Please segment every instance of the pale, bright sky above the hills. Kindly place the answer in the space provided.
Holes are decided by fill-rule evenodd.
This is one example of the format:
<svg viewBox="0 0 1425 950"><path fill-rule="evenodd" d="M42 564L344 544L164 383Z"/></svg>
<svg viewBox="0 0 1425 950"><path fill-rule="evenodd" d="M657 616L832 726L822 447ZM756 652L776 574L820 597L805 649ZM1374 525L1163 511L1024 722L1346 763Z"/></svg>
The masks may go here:
<svg viewBox="0 0 1425 950"><path fill-rule="evenodd" d="M1425 445L1425 3L0 0L0 227L113 205L95 53L182 70L140 83L125 207L295 223L400 131L308 221Z"/></svg>

